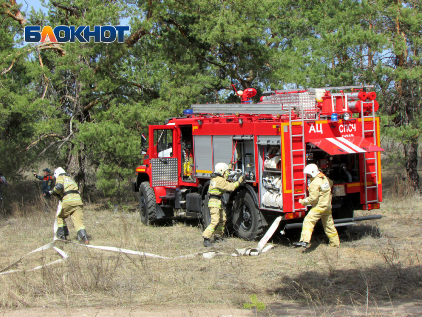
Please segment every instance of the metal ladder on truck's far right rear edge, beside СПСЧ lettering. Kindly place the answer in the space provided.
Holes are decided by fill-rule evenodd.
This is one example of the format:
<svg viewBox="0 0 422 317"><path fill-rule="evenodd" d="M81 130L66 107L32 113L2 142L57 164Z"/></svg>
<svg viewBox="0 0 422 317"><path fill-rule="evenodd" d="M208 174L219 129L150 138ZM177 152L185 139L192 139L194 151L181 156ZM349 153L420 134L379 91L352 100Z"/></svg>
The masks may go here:
<svg viewBox="0 0 422 317"><path fill-rule="evenodd" d="M366 139L366 134L369 134L369 137L373 137L373 143L377 145L377 139L376 139L376 132L375 132L375 103L371 101L372 103L372 112L370 115L365 116L364 113L364 107L362 106L361 110L361 118L362 118L362 137ZM368 121L372 122L372 129L371 130L365 130L365 119L368 118ZM367 156L370 156L368 158ZM372 157L373 156L373 157ZM365 205L372 204L372 203L379 203L379 196L378 196L378 161L377 161L377 153L364 153L363 159L365 163L365 173L364 173L364 184L365 184ZM368 171L369 164L374 162L375 171L371 172ZM368 177L372 178L372 184L368 186ZM376 196L375 200L368 200L368 189L375 189Z"/></svg>

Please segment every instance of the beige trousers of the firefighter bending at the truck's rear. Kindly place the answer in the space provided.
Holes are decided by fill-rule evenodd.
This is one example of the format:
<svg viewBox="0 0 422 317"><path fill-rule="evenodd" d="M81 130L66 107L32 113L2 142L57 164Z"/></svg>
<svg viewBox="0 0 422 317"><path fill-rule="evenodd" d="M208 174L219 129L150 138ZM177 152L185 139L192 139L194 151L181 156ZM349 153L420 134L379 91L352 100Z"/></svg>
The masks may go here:
<svg viewBox="0 0 422 317"><path fill-rule="evenodd" d="M311 241L312 232L314 231L315 224L321 219L324 231L327 237L330 239L330 246L339 246L340 240L337 234L336 227L334 227L333 216L330 211L320 212L315 209L311 209L303 220L302 235L300 242L304 241L309 243Z"/></svg>

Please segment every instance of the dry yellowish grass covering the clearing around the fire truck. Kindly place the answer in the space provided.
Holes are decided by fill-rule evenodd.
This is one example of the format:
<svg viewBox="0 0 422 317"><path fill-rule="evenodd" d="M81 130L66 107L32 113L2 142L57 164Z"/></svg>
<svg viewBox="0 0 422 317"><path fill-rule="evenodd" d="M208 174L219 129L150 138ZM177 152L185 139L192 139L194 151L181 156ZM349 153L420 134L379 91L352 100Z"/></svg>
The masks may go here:
<svg viewBox="0 0 422 317"><path fill-rule="evenodd" d="M398 180L399 181L399 180ZM65 262L33 272L0 276L2 307L214 307L241 308L256 294L262 314L302 307L310 316L383 315L379 306L418 302L422 296L422 201L404 184L384 195L383 218L360 223L341 235L341 248L330 248L316 230L309 249L292 248L297 233L277 236L278 247L259 257L221 256L162 260L64 245ZM0 221L0 267L52 240L54 211L43 212L41 199L9 204ZM356 215L369 212L356 212ZM188 219L144 226L137 212L119 212L87 203L84 222L93 245L116 246L163 256L202 252L201 230ZM68 222L70 238L75 231ZM215 249L255 246L229 238ZM60 246L59 246L60 247ZM53 250L35 253L18 266L30 269L60 258ZM297 316L303 316L304 311ZM336 315L337 314L337 315ZM290 315L287 315L290 316ZM401 316L395 311L395 316Z"/></svg>

